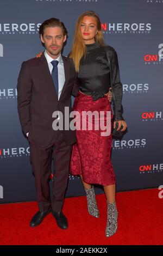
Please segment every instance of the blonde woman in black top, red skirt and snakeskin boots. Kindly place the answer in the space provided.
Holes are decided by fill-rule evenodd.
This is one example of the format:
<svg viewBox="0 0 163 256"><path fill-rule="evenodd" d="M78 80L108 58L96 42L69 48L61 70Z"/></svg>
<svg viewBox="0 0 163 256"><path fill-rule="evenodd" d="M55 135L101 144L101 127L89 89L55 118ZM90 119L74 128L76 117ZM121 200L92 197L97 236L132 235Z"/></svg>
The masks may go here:
<svg viewBox="0 0 163 256"><path fill-rule="evenodd" d="M112 109L106 94L110 88L110 68L106 51L111 64L112 94L114 97L115 112ZM101 22L93 11L86 11L79 16L72 51L70 53L76 71L78 72L79 93L74 100L73 110L80 113L83 111L104 111L106 124L106 112L111 112L110 123L114 121L114 127L118 123L117 130L126 130L127 124L122 117L122 83L118 68L117 54L114 48L106 46L103 40ZM101 117L101 116L100 116ZM103 185L108 203L108 215L105 235L111 236L117 230L118 211L115 202L115 173L112 167L110 154L112 137L102 136L102 130L95 129L76 130L77 144L73 145L70 172L80 175L87 196L89 213L99 217L95 191L91 184ZM101 121L101 120L99 120ZM88 124L88 121L87 121Z"/></svg>

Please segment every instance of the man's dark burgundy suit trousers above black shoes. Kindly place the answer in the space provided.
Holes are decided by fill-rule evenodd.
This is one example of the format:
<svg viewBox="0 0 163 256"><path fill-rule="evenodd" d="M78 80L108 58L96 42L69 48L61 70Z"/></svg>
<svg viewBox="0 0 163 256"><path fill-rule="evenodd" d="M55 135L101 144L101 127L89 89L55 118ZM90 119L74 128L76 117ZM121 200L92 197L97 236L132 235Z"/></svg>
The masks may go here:
<svg viewBox="0 0 163 256"><path fill-rule="evenodd" d="M71 145L67 145L61 131L54 131L51 143L45 148L36 147L29 142L30 161L35 175L37 203L40 211L61 211L64 203L70 167ZM52 199L49 187L52 159L54 181Z"/></svg>

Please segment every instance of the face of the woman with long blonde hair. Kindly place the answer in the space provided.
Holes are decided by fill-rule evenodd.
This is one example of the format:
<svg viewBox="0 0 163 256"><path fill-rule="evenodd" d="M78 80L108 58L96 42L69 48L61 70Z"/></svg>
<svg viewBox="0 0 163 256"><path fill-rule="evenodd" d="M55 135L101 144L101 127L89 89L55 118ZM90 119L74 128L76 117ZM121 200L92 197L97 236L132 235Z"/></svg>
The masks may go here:
<svg viewBox="0 0 163 256"><path fill-rule="evenodd" d="M97 33L96 19L90 16L84 16L80 29L85 44L93 44Z"/></svg>

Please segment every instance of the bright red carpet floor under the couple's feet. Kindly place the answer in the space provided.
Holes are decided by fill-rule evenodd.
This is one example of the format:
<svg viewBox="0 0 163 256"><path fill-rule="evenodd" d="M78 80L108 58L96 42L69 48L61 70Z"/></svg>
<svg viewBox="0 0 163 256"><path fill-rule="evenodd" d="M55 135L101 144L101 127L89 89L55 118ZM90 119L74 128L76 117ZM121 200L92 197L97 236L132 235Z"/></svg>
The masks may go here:
<svg viewBox="0 0 163 256"><path fill-rule="evenodd" d="M163 199L158 189L117 193L117 233L105 237L106 201L97 196L100 217L87 213L86 197L67 198L64 213L69 228L61 230L49 214L36 228L29 221L36 202L1 205L1 245L162 245Z"/></svg>

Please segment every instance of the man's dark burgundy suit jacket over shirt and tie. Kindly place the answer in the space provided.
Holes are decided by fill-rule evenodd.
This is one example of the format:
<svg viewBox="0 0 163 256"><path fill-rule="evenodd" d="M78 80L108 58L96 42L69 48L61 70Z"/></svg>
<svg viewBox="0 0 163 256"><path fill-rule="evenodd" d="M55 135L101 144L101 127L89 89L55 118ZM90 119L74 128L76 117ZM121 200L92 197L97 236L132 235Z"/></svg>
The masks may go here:
<svg viewBox="0 0 163 256"><path fill-rule="evenodd" d="M54 111L61 111L65 117L65 107L72 111L71 95L79 91L77 73L71 59L62 56L65 70L65 84L60 98L53 84L45 55L22 63L17 83L17 108L22 130L29 132L29 142L46 147L54 135L52 118ZM70 119L71 121L71 119ZM63 130L66 144L76 142L76 131Z"/></svg>

